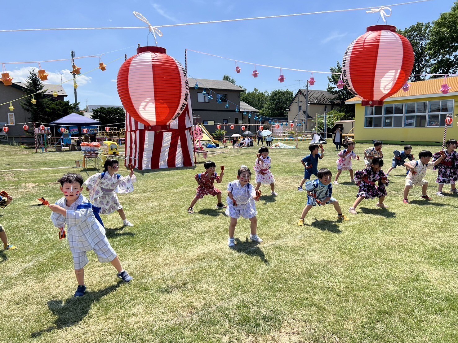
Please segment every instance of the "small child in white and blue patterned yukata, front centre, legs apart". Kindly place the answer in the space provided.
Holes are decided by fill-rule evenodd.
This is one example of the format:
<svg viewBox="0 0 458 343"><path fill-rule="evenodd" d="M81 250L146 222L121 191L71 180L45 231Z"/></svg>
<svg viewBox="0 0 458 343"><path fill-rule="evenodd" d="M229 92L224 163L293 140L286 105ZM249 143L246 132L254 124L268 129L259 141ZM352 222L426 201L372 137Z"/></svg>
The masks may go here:
<svg viewBox="0 0 458 343"><path fill-rule="evenodd" d="M262 239L256 234L257 218L256 204L259 196L256 196L256 190L250 183L251 171L247 166L240 166L237 172L237 180L228 184L228 198L226 214L230 217L229 224L229 247L235 247L234 232L237 220L240 217L249 219L251 234L250 240L261 243Z"/></svg>

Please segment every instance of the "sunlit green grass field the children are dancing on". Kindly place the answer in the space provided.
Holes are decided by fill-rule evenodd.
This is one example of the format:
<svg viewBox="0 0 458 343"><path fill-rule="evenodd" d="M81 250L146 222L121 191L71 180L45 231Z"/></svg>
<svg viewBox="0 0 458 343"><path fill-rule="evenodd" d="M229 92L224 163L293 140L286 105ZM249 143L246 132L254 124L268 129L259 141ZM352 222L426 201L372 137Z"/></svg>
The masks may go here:
<svg viewBox="0 0 458 343"><path fill-rule="evenodd" d="M287 143L288 144L288 143ZM292 144L292 143L289 143ZM355 151L370 145L357 144ZM326 146L319 167L336 172L337 152ZM385 167L392 151L384 145ZM414 146L413 153L438 147ZM214 157L227 183L241 164L254 165L256 148L231 149ZM139 171L134 193L120 195L127 219L102 216L107 236L131 284L120 284L109 263L89 253L87 295L74 299L76 279L66 240L37 198L61 197L56 180L74 168L81 152L33 154L0 145L0 190L14 201L0 222L16 251L0 252L1 342L457 342L458 197L445 186L437 198L436 172L428 171L431 202L411 190L402 203L405 169L391 173L385 204L365 200L359 214L338 222L332 206L311 209L307 225L297 221L306 193L299 150L272 150L278 197L262 186L257 203L258 234L248 241L249 221L239 220L236 249L227 246L229 218L206 197L188 215L195 196L193 168ZM354 161L354 170L364 166ZM217 167L219 171L219 167ZM253 170L252 170L253 171ZM121 169L123 175L128 171ZM254 174L253 174L254 177ZM357 186L343 172L333 196L344 213ZM84 192L87 195L87 192ZM225 196L223 197L225 202ZM349 214L348 214L349 215Z"/></svg>

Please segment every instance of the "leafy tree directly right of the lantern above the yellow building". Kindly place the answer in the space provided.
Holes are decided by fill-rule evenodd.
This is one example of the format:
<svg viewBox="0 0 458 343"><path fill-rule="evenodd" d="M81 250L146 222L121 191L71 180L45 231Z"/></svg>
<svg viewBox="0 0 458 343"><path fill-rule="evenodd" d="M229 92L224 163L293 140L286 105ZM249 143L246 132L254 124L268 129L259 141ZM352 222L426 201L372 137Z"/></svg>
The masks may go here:
<svg viewBox="0 0 458 343"><path fill-rule="evenodd" d="M428 55L428 44L430 43L431 24L429 22L417 22L415 25L406 27L403 30L396 30L399 34L409 39L414 49L415 61L412 74L427 74L429 72L431 59ZM415 75L410 81L425 80L425 76Z"/></svg>

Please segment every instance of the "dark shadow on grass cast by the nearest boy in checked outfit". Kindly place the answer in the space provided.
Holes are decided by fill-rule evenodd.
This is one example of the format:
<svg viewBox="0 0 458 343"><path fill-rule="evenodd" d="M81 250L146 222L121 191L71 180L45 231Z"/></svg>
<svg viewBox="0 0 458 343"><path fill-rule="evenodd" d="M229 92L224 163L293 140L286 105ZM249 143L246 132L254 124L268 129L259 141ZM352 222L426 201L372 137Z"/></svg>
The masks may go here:
<svg viewBox="0 0 458 343"><path fill-rule="evenodd" d="M122 281L119 281L117 284L105 287L97 292L86 292L86 294L80 298L67 298L65 304L62 304L62 300L49 300L49 310L57 316L55 324L41 331L33 332L30 336L36 338L41 336L44 332L51 332L55 329L63 329L64 327L71 327L78 324L87 316L93 304L100 301L105 295L116 290L122 283Z"/></svg>

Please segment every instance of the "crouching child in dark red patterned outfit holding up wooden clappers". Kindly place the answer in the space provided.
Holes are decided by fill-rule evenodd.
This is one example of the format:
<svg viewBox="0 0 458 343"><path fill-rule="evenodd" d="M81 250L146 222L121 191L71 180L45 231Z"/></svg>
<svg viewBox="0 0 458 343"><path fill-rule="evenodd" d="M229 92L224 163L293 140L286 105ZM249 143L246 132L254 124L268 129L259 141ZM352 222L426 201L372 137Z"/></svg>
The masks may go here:
<svg viewBox="0 0 458 343"><path fill-rule="evenodd" d="M218 199L218 204L216 207L218 209L225 209L226 205L223 204L223 200L221 199L221 191L218 188L215 188L214 182L221 183L223 181L224 171L218 174L215 172L216 164L213 161L207 161L204 163L203 167L205 168L205 173L196 174L194 178L196 179L199 187L196 188L197 193L196 197L192 199L191 205L188 207L188 213L193 214L194 210L192 209L196 202L199 199L202 199L206 195L213 195L216 196Z"/></svg>

